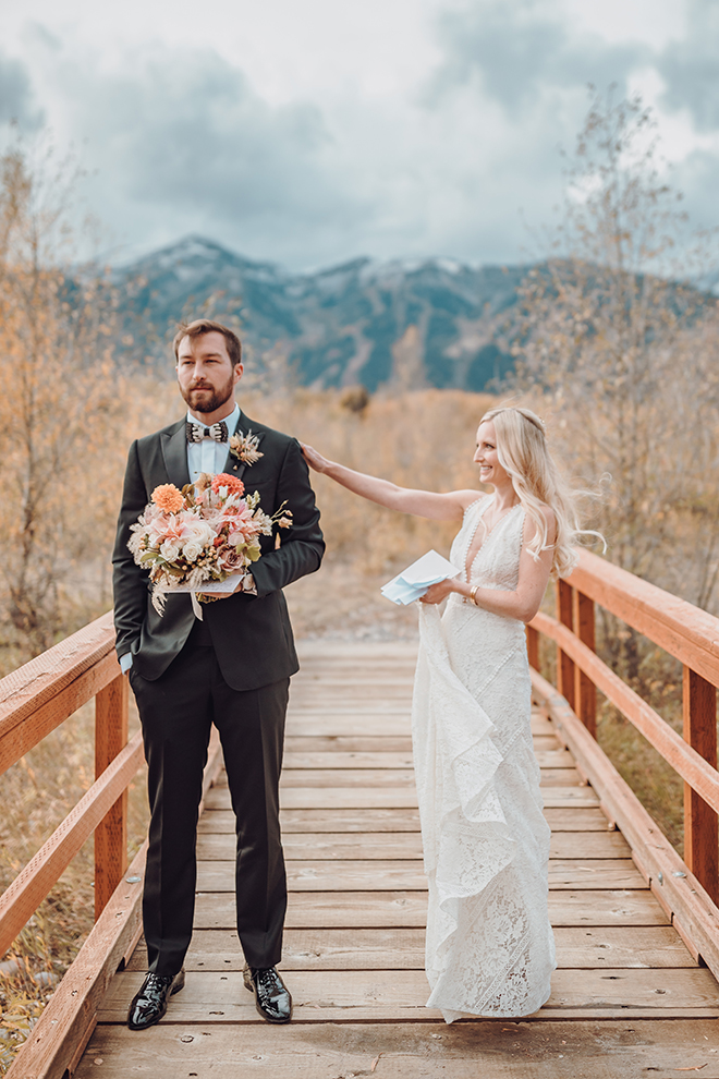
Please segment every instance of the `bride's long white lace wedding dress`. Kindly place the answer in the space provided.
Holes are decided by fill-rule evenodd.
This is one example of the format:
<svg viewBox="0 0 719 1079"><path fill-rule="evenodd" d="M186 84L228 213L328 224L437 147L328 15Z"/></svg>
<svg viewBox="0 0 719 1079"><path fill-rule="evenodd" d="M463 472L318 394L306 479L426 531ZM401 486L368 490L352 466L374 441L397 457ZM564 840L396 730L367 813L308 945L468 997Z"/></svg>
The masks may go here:
<svg viewBox="0 0 719 1079"><path fill-rule="evenodd" d="M468 507L452 545L463 573L492 498ZM499 520L472 584L516 587L523 525L519 505ZM532 1015L549 997L556 961L524 625L456 593L441 618L418 606L412 732L429 882L427 1006L448 1022Z"/></svg>

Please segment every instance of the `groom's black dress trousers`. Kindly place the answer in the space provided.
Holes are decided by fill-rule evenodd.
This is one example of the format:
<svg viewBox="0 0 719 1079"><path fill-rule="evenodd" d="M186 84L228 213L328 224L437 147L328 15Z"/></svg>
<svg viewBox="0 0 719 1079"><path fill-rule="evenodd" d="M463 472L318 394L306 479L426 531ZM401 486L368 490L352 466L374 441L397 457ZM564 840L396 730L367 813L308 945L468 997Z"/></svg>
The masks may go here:
<svg viewBox="0 0 719 1079"><path fill-rule="evenodd" d="M273 967L282 953L287 878L278 785L290 680L231 689L211 645L187 644L148 681L131 668L145 741L150 803L143 895L148 969L174 974L192 937L197 813L210 728L222 742L236 816L237 933L252 967Z"/></svg>

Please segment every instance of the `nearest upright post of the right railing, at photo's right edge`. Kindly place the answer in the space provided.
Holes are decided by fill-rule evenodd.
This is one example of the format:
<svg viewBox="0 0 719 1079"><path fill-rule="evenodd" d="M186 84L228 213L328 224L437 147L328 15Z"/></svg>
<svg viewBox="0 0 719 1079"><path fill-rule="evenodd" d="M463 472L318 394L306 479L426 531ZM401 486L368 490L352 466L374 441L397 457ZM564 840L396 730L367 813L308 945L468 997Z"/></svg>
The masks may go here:
<svg viewBox="0 0 719 1079"><path fill-rule="evenodd" d="M691 667L684 666L684 740L717 767L717 691ZM719 901L717 814L684 784L684 861Z"/></svg>

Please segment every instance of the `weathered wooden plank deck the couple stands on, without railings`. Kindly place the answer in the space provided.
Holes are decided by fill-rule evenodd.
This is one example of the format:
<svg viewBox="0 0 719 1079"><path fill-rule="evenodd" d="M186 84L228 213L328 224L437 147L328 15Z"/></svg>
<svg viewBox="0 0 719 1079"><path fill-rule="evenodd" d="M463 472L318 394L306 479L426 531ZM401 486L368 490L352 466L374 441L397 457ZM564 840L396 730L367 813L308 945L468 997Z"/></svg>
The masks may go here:
<svg viewBox="0 0 719 1079"><path fill-rule="evenodd" d="M522 1021L428 1010L426 890L412 775L414 647L309 643L293 680L282 820L290 882L288 1027L257 1016L234 925L223 779L199 827L187 984L149 1031L124 1026L141 942L119 972L77 1079L719 1079L719 986L693 959L551 723L533 717L552 828L552 996Z"/></svg>

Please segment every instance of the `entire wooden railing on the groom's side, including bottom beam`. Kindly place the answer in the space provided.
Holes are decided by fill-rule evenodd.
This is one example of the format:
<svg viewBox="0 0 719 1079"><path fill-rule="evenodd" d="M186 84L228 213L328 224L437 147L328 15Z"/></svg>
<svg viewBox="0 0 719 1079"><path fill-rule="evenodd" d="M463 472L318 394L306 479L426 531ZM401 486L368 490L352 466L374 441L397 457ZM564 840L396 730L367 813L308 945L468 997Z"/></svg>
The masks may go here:
<svg viewBox="0 0 719 1079"><path fill-rule="evenodd" d="M143 760L127 741L127 679L103 615L0 680L0 773L95 698L95 783L0 896L0 955L11 946L95 833L95 926L9 1071L12 1079L72 1077L110 979L142 933L145 846L127 866L127 787ZM204 789L221 757L210 743Z"/></svg>

